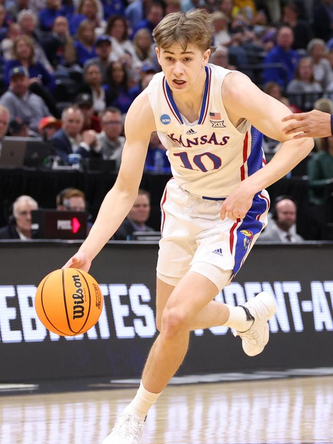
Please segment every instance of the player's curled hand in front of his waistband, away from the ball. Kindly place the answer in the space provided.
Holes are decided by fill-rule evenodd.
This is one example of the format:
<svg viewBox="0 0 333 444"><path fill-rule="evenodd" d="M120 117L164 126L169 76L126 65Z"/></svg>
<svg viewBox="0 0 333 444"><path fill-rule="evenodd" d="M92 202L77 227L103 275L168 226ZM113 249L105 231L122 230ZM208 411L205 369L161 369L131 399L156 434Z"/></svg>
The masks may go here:
<svg viewBox="0 0 333 444"><path fill-rule="evenodd" d="M228 217L232 220L243 219L252 206L253 194L244 191L240 185L223 202L221 219Z"/></svg>

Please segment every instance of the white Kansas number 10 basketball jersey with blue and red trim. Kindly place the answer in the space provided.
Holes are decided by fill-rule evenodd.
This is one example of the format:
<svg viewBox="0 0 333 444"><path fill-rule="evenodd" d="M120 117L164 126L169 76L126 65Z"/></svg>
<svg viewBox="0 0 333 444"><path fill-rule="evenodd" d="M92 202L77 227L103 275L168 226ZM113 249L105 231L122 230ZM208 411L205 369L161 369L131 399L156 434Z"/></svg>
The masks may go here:
<svg viewBox="0 0 333 444"><path fill-rule="evenodd" d="M247 120L236 129L224 109L221 86L230 71L211 64L205 71L196 122L189 123L179 113L162 72L154 75L146 91L177 184L196 196L218 198L228 196L265 160L262 134Z"/></svg>

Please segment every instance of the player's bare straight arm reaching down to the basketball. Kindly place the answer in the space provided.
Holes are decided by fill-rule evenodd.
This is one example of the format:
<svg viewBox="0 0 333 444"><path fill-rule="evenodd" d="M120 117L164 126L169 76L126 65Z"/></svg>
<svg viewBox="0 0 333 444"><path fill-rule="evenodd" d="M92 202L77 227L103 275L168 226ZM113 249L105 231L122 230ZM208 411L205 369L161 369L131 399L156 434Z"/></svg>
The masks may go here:
<svg viewBox="0 0 333 444"><path fill-rule="evenodd" d="M153 111L147 93L143 92L134 100L126 116L126 143L117 180L104 198L87 239L64 267L88 271L92 260L130 212L138 194L153 131L156 131Z"/></svg>

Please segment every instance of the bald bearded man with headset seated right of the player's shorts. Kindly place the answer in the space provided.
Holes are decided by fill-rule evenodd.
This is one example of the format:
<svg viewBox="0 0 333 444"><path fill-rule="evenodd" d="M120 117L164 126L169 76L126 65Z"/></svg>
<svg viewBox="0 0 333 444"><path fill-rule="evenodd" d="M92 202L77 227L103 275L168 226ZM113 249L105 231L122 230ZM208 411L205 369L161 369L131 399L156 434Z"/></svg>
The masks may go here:
<svg viewBox="0 0 333 444"><path fill-rule="evenodd" d="M260 235L261 241L270 242L302 242L303 238L296 232L296 203L288 196L280 196L275 200L272 219Z"/></svg>

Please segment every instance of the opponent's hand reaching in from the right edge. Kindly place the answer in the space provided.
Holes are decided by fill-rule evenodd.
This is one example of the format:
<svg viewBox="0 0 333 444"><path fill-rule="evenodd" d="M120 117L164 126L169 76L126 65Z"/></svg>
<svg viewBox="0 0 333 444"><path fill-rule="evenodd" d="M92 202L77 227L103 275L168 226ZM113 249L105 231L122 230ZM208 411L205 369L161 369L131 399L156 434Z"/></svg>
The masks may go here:
<svg viewBox="0 0 333 444"><path fill-rule="evenodd" d="M293 139L302 137L328 137L331 135L330 114L322 111L313 110L308 113L296 113L286 116L282 122L294 120L285 126L282 131L286 134L300 133Z"/></svg>

